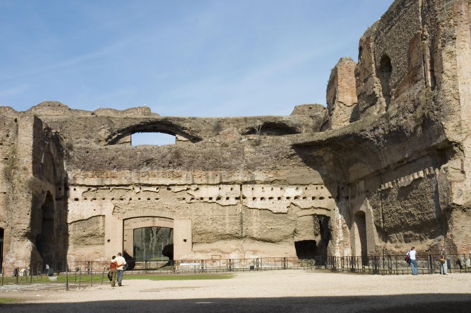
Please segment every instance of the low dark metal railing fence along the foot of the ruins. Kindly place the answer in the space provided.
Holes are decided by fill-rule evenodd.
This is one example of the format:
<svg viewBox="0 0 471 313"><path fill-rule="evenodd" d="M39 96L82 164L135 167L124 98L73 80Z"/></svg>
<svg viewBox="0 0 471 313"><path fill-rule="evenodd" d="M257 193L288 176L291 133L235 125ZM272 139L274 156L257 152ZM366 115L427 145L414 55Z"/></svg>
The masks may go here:
<svg viewBox="0 0 471 313"><path fill-rule="evenodd" d="M411 274L405 256L365 256L365 257L315 257L298 258L253 258L253 259L206 259L176 261L132 261L129 274L143 273L211 273L284 269L327 269L332 272L349 272L377 275ZM418 273L440 273L439 255L417 255ZM449 254L446 256L448 273L471 273L471 254ZM107 283L108 261L56 262L45 268L43 263L17 268L16 276L1 274L4 284L52 283L69 288L80 288Z"/></svg>

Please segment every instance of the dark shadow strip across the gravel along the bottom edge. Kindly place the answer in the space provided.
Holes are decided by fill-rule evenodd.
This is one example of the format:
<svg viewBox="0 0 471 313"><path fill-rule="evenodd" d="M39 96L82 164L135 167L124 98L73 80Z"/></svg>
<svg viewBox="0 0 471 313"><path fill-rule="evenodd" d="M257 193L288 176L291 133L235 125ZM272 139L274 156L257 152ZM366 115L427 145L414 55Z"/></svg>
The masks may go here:
<svg viewBox="0 0 471 313"><path fill-rule="evenodd" d="M405 287L406 288L406 287ZM406 290L405 290L406 291ZM151 291L158 292L158 291ZM149 293L149 292L145 292ZM110 292L110 297L112 293ZM4 304L16 312L470 312L470 294L414 294L353 297L205 298L109 300L80 303ZM5 311L6 312L6 311Z"/></svg>

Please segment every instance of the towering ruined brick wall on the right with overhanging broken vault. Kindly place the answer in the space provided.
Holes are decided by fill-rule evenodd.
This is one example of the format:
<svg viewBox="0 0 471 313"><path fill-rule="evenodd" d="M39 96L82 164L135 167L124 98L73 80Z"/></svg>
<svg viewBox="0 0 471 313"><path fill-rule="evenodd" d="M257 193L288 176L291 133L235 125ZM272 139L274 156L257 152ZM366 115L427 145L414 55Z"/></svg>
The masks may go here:
<svg viewBox="0 0 471 313"><path fill-rule="evenodd" d="M363 210L368 252L470 251L469 11L468 0L394 1L360 40L359 125L311 139L343 163L351 241Z"/></svg>

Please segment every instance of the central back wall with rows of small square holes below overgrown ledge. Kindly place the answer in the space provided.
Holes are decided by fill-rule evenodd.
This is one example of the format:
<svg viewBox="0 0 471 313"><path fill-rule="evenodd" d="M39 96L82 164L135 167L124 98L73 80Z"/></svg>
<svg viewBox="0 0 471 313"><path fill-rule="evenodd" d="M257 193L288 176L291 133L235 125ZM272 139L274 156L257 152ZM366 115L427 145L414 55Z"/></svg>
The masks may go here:
<svg viewBox="0 0 471 313"><path fill-rule="evenodd" d="M76 146L67 162L70 232L94 216L105 216L105 224L115 216L124 225L155 216L174 221L176 235L177 221L190 221L190 249L179 252L174 239L175 258L294 256L294 241L322 241L313 217L333 217L336 207L319 175L288 151L263 140L230 147ZM98 255L106 258L106 246L118 249L121 238L105 232L104 239ZM86 236L81 245L69 247L69 260L97 253L85 254Z"/></svg>

